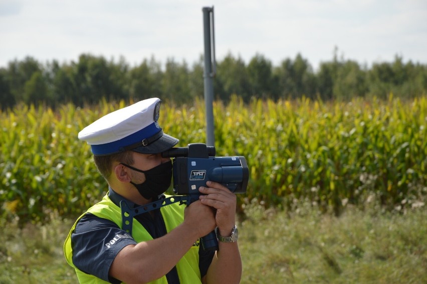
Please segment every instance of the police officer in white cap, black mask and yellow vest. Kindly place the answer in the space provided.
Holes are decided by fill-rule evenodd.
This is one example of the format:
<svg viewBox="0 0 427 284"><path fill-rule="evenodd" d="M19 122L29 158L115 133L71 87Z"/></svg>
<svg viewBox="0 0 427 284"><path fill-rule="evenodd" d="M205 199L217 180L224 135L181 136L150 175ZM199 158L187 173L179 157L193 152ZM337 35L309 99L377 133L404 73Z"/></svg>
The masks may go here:
<svg viewBox="0 0 427 284"><path fill-rule="evenodd" d="M160 100L152 98L98 119L79 133L94 154L109 190L73 225L64 244L67 262L82 283L238 283L242 261L235 226L236 195L215 182L199 200L135 216L122 229L120 202L130 208L165 198L172 164L161 153L178 143L158 125ZM199 238L218 227L218 251Z"/></svg>

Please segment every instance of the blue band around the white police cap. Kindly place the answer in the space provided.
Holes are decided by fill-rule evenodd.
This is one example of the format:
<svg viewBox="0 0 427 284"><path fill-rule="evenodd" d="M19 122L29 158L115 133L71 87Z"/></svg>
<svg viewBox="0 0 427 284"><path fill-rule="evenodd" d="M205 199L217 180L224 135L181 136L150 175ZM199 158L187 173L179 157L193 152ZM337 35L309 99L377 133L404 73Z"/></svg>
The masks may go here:
<svg viewBox="0 0 427 284"><path fill-rule="evenodd" d="M120 140L106 143L106 144L99 144L99 145L90 145L92 153L94 155L110 155L119 153L121 147L126 147L132 144L135 144L137 142L140 142L146 138L149 138L156 134L157 132L161 131L161 128L158 128L156 126L156 123L152 123L148 125L147 127L129 135L125 138L122 138Z"/></svg>

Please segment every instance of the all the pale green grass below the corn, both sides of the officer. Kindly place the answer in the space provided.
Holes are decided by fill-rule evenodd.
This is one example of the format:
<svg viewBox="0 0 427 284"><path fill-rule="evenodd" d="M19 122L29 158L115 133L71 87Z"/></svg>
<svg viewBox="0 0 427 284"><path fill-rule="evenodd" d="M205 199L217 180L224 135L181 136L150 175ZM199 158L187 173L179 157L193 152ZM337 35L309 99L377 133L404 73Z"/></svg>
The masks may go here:
<svg viewBox="0 0 427 284"><path fill-rule="evenodd" d="M239 225L242 283L426 283L427 210L246 206ZM242 218L241 218L242 219ZM0 283L76 283L62 244L73 220L0 221Z"/></svg>

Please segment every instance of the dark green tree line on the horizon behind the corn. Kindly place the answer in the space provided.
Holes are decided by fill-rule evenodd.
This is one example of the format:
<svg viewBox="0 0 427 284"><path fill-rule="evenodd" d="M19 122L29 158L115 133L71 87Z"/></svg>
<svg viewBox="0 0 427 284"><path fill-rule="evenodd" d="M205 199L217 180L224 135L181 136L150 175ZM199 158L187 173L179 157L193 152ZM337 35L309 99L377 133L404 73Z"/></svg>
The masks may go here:
<svg viewBox="0 0 427 284"><path fill-rule="evenodd" d="M217 62L213 81L217 100L227 102L236 94L251 98L350 100L354 97L413 98L427 93L427 65L394 61L373 63L370 68L338 58L335 49L330 61L314 71L301 54L285 59L279 66L261 54L247 64L228 54ZM77 106L108 100L141 100L159 97L174 103L188 103L203 97L203 58L189 66L185 61L166 60L164 66L154 57L130 66L122 57L117 62L103 56L80 55L77 62L41 63L33 57L14 60L0 68L2 109L23 102L55 107L63 103Z"/></svg>

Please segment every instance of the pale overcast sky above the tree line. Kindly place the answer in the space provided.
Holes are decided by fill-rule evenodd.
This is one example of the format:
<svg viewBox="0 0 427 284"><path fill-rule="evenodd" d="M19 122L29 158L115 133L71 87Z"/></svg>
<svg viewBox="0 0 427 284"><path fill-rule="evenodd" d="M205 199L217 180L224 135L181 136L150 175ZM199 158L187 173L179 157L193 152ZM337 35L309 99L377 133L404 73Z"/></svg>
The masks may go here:
<svg viewBox="0 0 427 284"><path fill-rule="evenodd" d="M337 47L368 66L396 55L427 64L426 0L0 0L0 67L82 53L191 65L203 53L202 8L212 6L217 60L258 53L278 66L300 53L316 70Z"/></svg>

